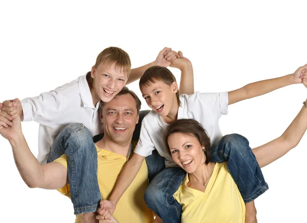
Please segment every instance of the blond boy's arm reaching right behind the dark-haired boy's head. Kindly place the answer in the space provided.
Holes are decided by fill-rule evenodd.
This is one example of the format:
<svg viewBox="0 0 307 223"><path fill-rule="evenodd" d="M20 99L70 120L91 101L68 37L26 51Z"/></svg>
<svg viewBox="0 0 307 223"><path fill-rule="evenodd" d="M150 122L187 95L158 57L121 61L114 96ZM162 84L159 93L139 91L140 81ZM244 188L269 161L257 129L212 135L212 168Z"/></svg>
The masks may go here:
<svg viewBox="0 0 307 223"><path fill-rule="evenodd" d="M161 50L154 62L151 62L149 64L146 64L142 67L131 69L129 78L127 80L126 84L133 83L135 80L140 79L140 77L143 75L145 70L147 68L152 66L161 66L161 67L168 67L170 65L170 62L168 61L171 58L180 57L180 55L172 51L171 48L165 47L163 50Z"/></svg>

